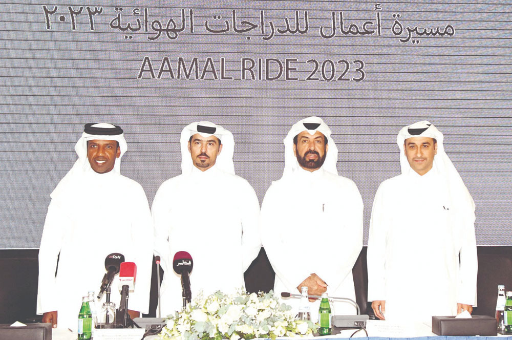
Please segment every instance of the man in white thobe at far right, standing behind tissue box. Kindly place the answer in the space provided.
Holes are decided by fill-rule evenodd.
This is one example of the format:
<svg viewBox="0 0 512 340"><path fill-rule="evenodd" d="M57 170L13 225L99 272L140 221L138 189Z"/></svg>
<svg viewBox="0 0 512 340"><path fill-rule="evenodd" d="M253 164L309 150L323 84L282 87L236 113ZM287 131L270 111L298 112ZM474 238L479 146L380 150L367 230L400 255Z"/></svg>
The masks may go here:
<svg viewBox="0 0 512 340"><path fill-rule="evenodd" d="M392 322L476 306L475 204L428 121L400 130L402 173L380 184L368 240L368 300ZM460 256L460 263L459 263Z"/></svg>

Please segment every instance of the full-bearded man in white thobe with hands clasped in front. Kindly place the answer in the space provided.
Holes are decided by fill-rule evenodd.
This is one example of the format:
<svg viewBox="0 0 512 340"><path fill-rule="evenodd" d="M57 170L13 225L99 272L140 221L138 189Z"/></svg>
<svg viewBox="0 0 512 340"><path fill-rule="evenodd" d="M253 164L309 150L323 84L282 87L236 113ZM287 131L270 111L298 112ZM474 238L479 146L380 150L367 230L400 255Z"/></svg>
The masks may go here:
<svg viewBox="0 0 512 340"><path fill-rule="evenodd" d="M275 271L274 292L355 300L352 267L362 248L362 199L353 181L338 176L337 148L321 118L294 124L284 140L283 177L272 182L261 208L260 235ZM298 300L288 300L295 310ZM310 302L317 318L319 301ZM355 314L335 303L336 314Z"/></svg>

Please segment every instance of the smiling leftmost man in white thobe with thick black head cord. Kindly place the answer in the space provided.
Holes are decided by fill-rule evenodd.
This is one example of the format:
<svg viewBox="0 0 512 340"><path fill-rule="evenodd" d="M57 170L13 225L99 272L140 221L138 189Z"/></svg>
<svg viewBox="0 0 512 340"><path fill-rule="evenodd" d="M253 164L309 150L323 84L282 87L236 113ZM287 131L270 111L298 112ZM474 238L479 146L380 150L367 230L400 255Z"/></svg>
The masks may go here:
<svg viewBox="0 0 512 340"><path fill-rule="evenodd" d="M50 195L39 247L37 313L53 327L77 329L82 296L98 294L105 258L114 252L137 266L130 315L148 312L151 214L140 184L120 174L126 150L119 126L86 124L75 145L78 160ZM111 290L119 307L117 278ZM97 306L104 300L105 294Z"/></svg>

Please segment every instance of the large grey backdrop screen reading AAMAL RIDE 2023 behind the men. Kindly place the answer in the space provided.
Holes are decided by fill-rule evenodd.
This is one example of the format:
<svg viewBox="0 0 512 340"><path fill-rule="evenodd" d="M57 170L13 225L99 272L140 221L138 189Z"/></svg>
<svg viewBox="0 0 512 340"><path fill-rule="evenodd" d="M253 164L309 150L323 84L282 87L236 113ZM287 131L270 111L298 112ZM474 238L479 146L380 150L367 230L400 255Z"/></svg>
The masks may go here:
<svg viewBox="0 0 512 340"><path fill-rule="evenodd" d="M365 203L400 173L396 135L430 120L477 206L480 245L512 245L512 4L482 1L2 1L0 248L39 246L50 193L87 122L121 125L121 172L180 170L179 134L236 140L263 199L283 138L322 117ZM418 210L418 215L428 211Z"/></svg>

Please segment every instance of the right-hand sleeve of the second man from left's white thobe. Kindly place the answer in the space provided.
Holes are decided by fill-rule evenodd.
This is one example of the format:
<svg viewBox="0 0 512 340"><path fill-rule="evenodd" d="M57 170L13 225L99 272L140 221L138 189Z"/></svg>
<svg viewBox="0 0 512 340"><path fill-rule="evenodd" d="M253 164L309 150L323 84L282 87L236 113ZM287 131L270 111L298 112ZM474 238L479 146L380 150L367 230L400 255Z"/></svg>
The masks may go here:
<svg viewBox="0 0 512 340"><path fill-rule="evenodd" d="M260 218L260 202L249 183L242 190L240 197L242 216L242 249L243 270L246 271L261 249L258 222Z"/></svg>

